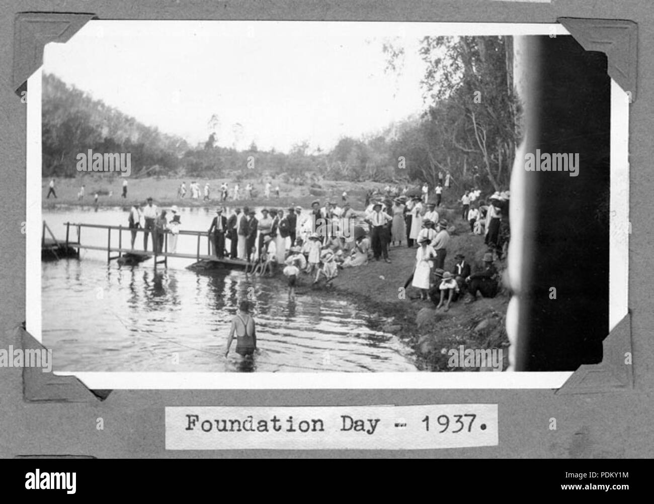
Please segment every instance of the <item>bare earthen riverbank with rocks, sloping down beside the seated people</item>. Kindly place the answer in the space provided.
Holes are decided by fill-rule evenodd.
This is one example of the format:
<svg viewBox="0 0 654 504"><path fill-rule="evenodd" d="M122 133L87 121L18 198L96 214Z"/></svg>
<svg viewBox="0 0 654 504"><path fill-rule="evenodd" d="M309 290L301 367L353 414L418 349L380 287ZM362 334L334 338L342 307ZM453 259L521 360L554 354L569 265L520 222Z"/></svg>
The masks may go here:
<svg viewBox="0 0 654 504"><path fill-rule="evenodd" d="M445 270L452 270L454 256L458 252L466 254L466 259L481 264L485 249L483 236L470 234L463 229L451 238ZM506 369L508 294L501 292L490 299L479 296L470 304L458 300L447 312L442 308L436 311L430 301L411 299L417 295L417 291L410 285L402 298L400 289L413 272L415 252L415 248L409 249L406 245L391 247L391 264L373 260L368 266L341 270L334 280L334 288L326 291L329 292L326 295L343 296L358 306L366 307L375 328L397 334L415 351L417 366L421 370L462 370L447 366L447 350L458 349L459 345L464 345L466 349L503 348L503 368ZM505 266L496 265L500 269ZM470 368L466 370L470 371Z"/></svg>

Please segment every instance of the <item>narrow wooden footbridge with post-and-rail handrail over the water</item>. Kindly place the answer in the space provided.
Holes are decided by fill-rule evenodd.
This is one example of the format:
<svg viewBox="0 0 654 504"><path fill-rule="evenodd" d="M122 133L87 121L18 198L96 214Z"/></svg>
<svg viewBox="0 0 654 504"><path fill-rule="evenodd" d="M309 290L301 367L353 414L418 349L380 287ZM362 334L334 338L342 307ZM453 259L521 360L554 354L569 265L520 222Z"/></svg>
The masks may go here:
<svg viewBox="0 0 654 504"><path fill-rule="evenodd" d="M109 225L100 225L100 224L82 224L82 223L71 223L67 222L64 224L66 227L66 238L65 240L58 240L55 238L54 233L50 230L50 227L43 221L43 238L41 240L41 256L42 257L52 257L54 259L60 259L60 257L79 257L80 249L86 250L99 250L107 252L107 263L112 260L118 260L121 264L138 264L144 260L154 257L154 266L156 268L157 264L164 264L167 266L169 257L179 257L182 259L195 259L196 262L207 261L213 263L213 266L222 264L228 268L245 268L247 271L248 268L253 267L254 263L248 262L241 259L227 259L227 258L218 258L215 255L215 251L212 251L213 244L212 240L209 238L207 232L202 231L188 231L180 230L177 242L181 242L182 236L196 236L196 253L179 253L177 251L171 252L168 249L168 237L171 234L166 231L163 232L163 245L161 251L158 251L156 242L160 238L161 233L156 232L156 230L148 230L144 228L128 228L124 226L109 226ZM75 233L76 239L71 238L71 228L77 230ZM85 245L81 241L82 228L95 228L95 229L105 229L107 230L107 245ZM46 237L46 232L50 235ZM139 244L139 236L141 233L148 233L151 238L150 244L152 245L152 250L138 250L133 249L129 246L131 244L132 233L137 234L135 239L135 245ZM123 245L123 234L127 233L126 236L126 245ZM206 253L201 253L204 251L204 247L201 242L202 239L206 240ZM141 242L142 243L142 242Z"/></svg>

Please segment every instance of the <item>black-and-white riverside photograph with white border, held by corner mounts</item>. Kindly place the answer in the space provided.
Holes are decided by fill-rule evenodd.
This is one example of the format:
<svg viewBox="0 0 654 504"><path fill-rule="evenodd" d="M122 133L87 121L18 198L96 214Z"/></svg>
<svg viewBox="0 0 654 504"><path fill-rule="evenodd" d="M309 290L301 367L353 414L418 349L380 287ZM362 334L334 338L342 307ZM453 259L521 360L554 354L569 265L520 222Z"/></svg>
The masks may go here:
<svg viewBox="0 0 654 504"><path fill-rule="evenodd" d="M56 373L555 388L626 313L628 94L560 25L92 20L32 83Z"/></svg>

